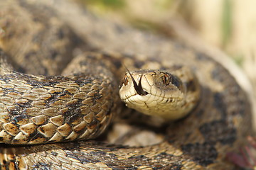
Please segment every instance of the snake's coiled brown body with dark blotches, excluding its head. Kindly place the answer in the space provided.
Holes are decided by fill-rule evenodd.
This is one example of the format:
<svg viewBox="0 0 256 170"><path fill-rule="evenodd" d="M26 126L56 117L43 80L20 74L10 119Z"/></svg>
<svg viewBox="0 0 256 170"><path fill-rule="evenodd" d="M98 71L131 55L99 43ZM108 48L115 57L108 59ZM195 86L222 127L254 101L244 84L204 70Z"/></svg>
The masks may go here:
<svg viewBox="0 0 256 170"><path fill-rule="evenodd" d="M102 119L101 115L97 116L100 113L97 109L110 110L104 113L110 118L122 107L115 96L115 88L125 71L122 64L131 70L186 65L195 72L201 86L200 103L196 109L165 128L165 140L158 145L123 147L95 141L28 146L3 144L0 148L1 169L235 169L225 160L225 153L237 149L251 133L250 101L221 64L168 38L102 21L69 1L0 1L0 6L0 28L3 30L0 45L4 51L1 57L8 56L8 62L16 70L13 72L8 64L1 62L2 142L38 141L43 136L50 140L55 134L61 135L59 127L65 124L72 130L67 132L65 129L66 134L55 139L67 140L72 132L70 137L77 139L80 132L85 133L85 130L79 130L82 125L87 130L105 129L108 123L95 125ZM101 50L126 55L84 53ZM81 70L85 76L82 79L78 74ZM26 74L23 76L18 72ZM49 78L27 74L70 76ZM69 84L63 86L60 81L67 79ZM102 84L110 87L106 88L107 95L102 95L105 98L102 102L107 100L107 106L100 104L91 108L90 103L95 106L100 100L98 94L103 92L98 88L104 86ZM86 103L85 98L75 96L85 92L81 91L84 86L93 91L85 96L91 95L95 102ZM50 92L56 88L59 91ZM53 100L43 98L44 93ZM70 100L65 101L67 98ZM90 118L85 118L86 109L82 110L82 105L94 111L91 125ZM44 111L54 106L82 114L71 119L66 116L72 115L64 111L55 118L58 116L55 113L63 108ZM28 113L26 118L22 117L25 113ZM41 116L37 119L40 123L36 124L35 116L38 115ZM42 128L49 124L54 127L54 134L47 131L48 126ZM30 126L24 128L23 125ZM17 134L25 134L25 137L18 138Z"/></svg>

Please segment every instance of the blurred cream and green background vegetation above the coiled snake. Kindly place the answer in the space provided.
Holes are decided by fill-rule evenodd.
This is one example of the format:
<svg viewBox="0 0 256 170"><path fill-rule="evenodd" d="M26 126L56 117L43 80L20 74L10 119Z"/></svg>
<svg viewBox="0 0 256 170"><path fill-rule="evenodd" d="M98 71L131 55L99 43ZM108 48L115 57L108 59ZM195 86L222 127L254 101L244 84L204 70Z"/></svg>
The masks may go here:
<svg viewBox="0 0 256 170"><path fill-rule="evenodd" d="M230 55L256 86L256 1L76 0L100 16L163 33L166 21L182 18L208 44ZM168 30L168 28L167 28ZM255 88L256 89L256 88Z"/></svg>

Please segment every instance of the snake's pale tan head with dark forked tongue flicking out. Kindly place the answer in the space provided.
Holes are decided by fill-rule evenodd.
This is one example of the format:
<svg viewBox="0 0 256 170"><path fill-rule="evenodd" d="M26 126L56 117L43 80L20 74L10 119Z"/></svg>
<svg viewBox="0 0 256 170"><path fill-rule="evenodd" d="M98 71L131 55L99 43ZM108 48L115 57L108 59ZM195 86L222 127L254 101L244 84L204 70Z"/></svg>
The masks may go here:
<svg viewBox="0 0 256 170"><path fill-rule="evenodd" d="M191 100L188 94L186 82L164 70L128 70L119 89L129 108L166 120L182 118L191 111L196 103L187 102L187 97Z"/></svg>

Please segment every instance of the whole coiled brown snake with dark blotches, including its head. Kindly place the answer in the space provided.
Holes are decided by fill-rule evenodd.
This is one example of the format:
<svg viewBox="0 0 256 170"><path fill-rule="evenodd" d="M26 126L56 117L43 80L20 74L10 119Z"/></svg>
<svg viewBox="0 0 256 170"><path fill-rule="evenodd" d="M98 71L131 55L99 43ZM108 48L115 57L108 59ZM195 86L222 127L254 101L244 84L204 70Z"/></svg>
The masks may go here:
<svg viewBox="0 0 256 170"><path fill-rule="evenodd" d="M235 169L226 154L252 133L252 110L223 64L71 1L0 6L1 169ZM159 120L164 138L97 138L132 115Z"/></svg>

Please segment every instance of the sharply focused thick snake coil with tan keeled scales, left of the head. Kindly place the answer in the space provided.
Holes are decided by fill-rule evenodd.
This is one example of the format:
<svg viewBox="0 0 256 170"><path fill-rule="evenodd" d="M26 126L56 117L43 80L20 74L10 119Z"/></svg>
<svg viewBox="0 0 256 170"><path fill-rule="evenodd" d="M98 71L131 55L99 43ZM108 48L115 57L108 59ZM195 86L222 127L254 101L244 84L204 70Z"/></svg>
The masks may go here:
<svg viewBox="0 0 256 170"><path fill-rule="evenodd" d="M113 92L108 79L80 79L78 83L76 77L59 77L66 81L57 82L15 73L0 79L1 142L40 144L90 139L110 123L107 114L114 101L110 100Z"/></svg>

